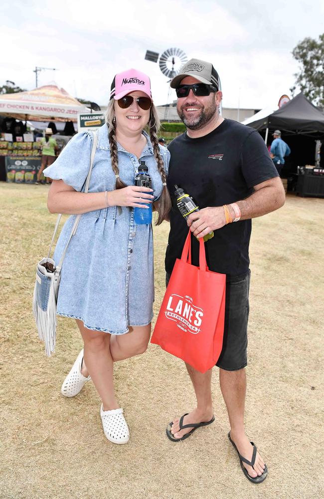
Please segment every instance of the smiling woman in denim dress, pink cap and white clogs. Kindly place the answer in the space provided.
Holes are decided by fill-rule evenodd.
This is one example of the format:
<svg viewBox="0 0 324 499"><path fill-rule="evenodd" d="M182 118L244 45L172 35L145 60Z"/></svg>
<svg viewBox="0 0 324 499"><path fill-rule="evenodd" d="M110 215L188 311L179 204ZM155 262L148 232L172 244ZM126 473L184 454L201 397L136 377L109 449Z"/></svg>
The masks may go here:
<svg viewBox="0 0 324 499"><path fill-rule="evenodd" d="M61 391L73 397L91 377L102 399L104 433L124 444L129 430L114 393L113 363L146 351L154 301L152 227L137 226L133 208L159 198L158 225L170 209L169 152L158 144L159 117L146 74L130 69L115 76L106 122L98 131L89 193L80 192L90 165L87 132L74 136L44 174L53 179L49 211L84 214L63 262L57 302L59 315L76 319L84 351ZM139 160L148 166L154 192L134 186ZM59 237L56 262L73 221L70 217Z"/></svg>

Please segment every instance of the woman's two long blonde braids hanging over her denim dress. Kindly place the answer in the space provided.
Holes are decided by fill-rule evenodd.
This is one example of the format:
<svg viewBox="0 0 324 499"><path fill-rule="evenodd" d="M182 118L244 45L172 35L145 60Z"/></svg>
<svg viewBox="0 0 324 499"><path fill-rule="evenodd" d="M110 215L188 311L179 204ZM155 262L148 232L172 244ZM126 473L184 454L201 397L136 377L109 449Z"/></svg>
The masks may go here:
<svg viewBox="0 0 324 499"><path fill-rule="evenodd" d="M110 145L110 157L111 157L111 166L116 175L116 189L123 189L127 187L126 184L119 177L119 168L118 168L118 154L117 154L117 139L116 139L116 118L115 118L115 99L111 99L109 101L107 111L105 114L106 123L108 125L108 138ZM157 111L157 108L152 103L150 110L150 119L148 123L149 134L151 143L153 146L154 157L157 162L158 170L161 175L162 183L166 183L166 174L164 171L163 160L160 154L160 147L158 142L157 132L160 128L160 118ZM156 225L162 224L163 220L166 219L168 212L171 209L171 198L168 192L166 185L163 185L162 194L159 199L159 216L156 220Z"/></svg>

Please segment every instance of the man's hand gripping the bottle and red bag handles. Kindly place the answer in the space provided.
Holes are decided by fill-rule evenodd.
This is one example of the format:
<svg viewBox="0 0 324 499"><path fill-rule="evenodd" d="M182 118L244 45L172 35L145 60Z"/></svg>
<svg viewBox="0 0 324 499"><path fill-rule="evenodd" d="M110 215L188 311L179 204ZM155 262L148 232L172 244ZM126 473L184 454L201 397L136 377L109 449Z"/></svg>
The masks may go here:
<svg viewBox="0 0 324 499"><path fill-rule="evenodd" d="M203 238L209 232L221 229L226 225L224 208L216 206L191 213L187 218L187 224L194 236L198 239Z"/></svg>

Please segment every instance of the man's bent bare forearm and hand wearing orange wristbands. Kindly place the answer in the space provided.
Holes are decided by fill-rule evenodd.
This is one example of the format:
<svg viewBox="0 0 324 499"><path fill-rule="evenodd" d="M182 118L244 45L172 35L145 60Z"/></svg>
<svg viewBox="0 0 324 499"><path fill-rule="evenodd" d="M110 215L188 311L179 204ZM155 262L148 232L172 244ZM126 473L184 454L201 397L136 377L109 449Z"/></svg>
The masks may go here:
<svg viewBox="0 0 324 499"><path fill-rule="evenodd" d="M248 198L236 201L241 210L241 219L248 220L262 217L267 213L281 208L285 204L285 190L279 177L266 180L254 186L254 193ZM227 205L232 219L235 213L230 205ZM239 224L240 222L235 222ZM191 232L198 238L203 238L210 231L221 229L226 225L225 212L222 206L203 208L199 212L192 213L187 219Z"/></svg>

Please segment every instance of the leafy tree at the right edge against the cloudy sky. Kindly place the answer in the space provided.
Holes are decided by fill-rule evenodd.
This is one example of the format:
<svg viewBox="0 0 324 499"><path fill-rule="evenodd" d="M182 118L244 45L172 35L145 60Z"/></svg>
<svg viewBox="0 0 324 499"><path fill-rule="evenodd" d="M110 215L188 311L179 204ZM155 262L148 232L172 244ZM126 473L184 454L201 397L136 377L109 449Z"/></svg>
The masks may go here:
<svg viewBox="0 0 324 499"><path fill-rule="evenodd" d="M324 107L324 33L319 40L304 38L292 54L301 68L294 75L296 83L291 92L294 94L299 87L314 104Z"/></svg>

